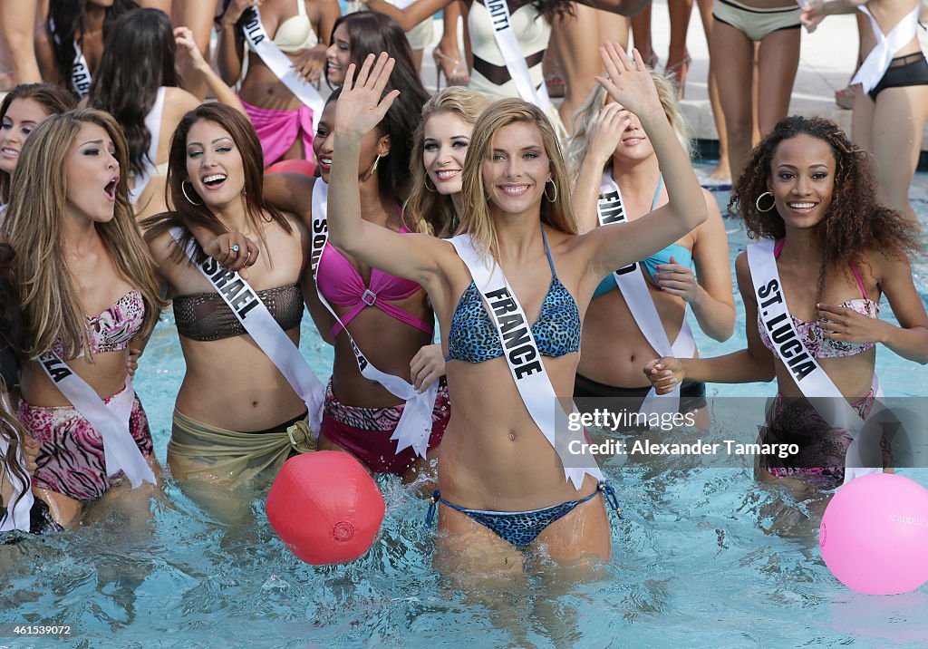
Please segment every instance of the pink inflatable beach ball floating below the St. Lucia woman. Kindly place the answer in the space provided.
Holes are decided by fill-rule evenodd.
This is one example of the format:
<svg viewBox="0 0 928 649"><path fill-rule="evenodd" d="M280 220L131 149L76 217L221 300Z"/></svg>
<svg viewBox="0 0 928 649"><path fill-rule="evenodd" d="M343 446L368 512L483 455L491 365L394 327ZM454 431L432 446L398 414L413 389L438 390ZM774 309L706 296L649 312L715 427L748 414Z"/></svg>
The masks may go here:
<svg viewBox="0 0 928 649"><path fill-rule="evenodd" d="M852 591L914 591L928 581L928 489L896 474L852 480L825 510L818 547Z"/></svg>

